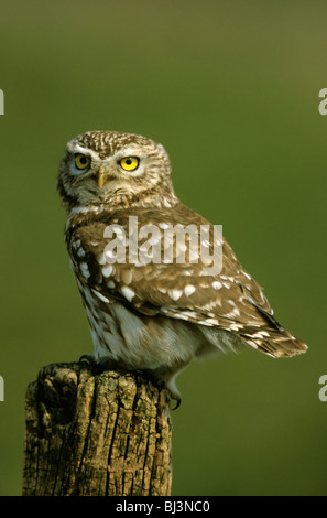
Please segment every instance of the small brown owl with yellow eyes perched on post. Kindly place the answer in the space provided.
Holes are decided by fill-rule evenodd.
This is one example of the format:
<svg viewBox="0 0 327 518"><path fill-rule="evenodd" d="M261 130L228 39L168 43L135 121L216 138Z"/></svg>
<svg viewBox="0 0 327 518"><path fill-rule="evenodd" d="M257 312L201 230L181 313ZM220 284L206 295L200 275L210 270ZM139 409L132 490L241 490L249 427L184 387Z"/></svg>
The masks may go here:
<svg viewBox="0 0 327 518"><path fill-rule="evenodd" d="M95 361L144 370L178 406L175 378L194 358L244 347L274 358L306 350L276 322L222 236L221 263L210 269L215 226L178 199L160 143L116 131L80 134L67 144L57 188ZM172 228L206 234L197 240L184 231L177 240L165 234ZM200 253L205 247L212 253Z"/></svg>

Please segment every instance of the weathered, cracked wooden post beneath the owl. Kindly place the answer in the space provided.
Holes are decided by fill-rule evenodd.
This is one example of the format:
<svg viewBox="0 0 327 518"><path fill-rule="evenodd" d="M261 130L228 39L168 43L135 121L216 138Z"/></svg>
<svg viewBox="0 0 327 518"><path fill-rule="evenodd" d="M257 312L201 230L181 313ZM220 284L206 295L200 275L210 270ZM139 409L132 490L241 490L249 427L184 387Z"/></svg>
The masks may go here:
<svg viewBox="0 0 327 518"><path fill-rule="evenodd" d="M43 367L26 391L23 495L170 496L170 399L138 373Z"/></svg>

